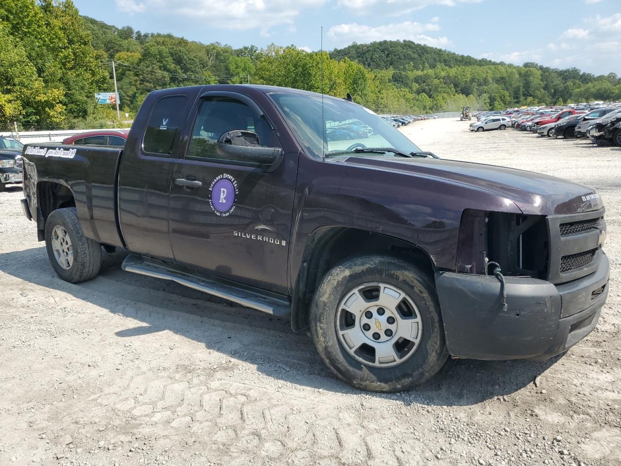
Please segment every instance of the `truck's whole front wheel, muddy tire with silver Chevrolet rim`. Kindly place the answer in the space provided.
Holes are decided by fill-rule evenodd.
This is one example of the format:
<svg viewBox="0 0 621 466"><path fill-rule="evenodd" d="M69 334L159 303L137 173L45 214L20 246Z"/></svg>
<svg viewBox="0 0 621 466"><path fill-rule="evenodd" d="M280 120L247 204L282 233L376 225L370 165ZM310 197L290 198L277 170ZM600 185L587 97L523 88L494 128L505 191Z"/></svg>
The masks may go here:
<svg viewBox="0 0 621 466"><path fill-rule="evenodd" d="M375 296L373 290L379 290L377 299L360 299L360 293ZM354 295L356 299L345 309ZM399 297L394 299L394 295ZM373 306L374 302L380 307ZM381 311L381 305L386 306L385 311ZM365 319L376 329L368 326ZM378 319L384 319L383 323ZM408 390L432 378L448 357L433 284L424 273L397 258L372 255L334 267L317 288L310 321L312 338L322 360L337 377L361 390ZM390 324L394 325L394 334L391 331L389 335ZM380 336L382 326L386 327ZM346 334L351 339L347 340ZM403 334L407 339L400 336ZM384 340L376 342L376 336ZM392 337L394 344L390 344ZM384 352L383 360L379 360L379 351Z"/></svg>

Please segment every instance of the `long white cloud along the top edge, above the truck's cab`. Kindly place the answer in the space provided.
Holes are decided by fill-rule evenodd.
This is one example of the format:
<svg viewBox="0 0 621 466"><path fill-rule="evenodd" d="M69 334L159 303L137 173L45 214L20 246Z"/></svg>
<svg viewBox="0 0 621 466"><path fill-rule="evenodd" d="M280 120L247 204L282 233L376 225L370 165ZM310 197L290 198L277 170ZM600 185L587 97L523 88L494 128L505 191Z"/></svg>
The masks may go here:
<svg viewBox="0 0 621 466"><path fill-rule="evenodd" d="M200 19L203 24L220 29L261 30L269 36L270 28L294 24L301 12L322 6L327 0L116 0L119 11L154 12L161 16Z"/></svg>

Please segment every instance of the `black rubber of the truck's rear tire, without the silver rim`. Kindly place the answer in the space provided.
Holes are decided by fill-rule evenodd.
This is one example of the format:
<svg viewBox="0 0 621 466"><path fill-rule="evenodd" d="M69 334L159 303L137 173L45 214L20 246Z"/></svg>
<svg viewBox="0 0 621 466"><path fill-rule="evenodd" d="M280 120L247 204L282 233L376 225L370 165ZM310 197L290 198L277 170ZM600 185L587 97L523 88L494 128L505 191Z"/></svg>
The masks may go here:
<svg viewBox="0 0 621 466"><path fill-rule="evenodd" d="M73 244L73 265L68 270L60 267L52 252L50 237L56 225L62 225ZM53 211L45 222L45 246L50 263L60 278L70 283L91 280L101 268L101 244L84 236L75 207Z"/></svg>

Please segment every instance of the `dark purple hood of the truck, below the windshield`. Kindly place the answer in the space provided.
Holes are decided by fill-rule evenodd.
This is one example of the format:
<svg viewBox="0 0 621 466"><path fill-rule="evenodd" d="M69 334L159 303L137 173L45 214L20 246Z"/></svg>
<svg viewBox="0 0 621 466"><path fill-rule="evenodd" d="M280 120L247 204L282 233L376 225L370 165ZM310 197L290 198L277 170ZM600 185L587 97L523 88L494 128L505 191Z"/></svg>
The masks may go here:
<svg viewBox="0 0 621 466"><path fill-rule="evenodd" d="M471 186L510 199L524 214L554 215L602 208L593 188L533 171L437 158L359 157L343 163L446 180L447 190Z"/></svg>

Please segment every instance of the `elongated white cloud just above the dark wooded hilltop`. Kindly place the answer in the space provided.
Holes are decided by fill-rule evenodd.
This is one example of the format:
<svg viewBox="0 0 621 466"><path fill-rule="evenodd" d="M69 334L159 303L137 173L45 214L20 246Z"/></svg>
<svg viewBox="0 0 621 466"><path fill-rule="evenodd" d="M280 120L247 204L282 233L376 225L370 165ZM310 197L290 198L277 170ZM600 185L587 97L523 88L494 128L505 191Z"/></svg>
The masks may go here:
<svg viewBox="0 0 621 466"><path fill-rule="evenodd" d="M412 40L433 47L446 47L450 41L446 37L430 37L424 32L440 30L436 22L419 23L405 21L397 24L368 26L357 23L338 24L330 27L328 37L330 47L344 47L351 42L368 43L376 40Z"/></svg>

